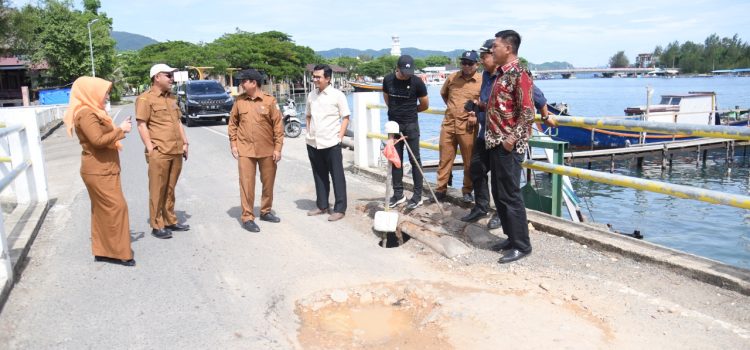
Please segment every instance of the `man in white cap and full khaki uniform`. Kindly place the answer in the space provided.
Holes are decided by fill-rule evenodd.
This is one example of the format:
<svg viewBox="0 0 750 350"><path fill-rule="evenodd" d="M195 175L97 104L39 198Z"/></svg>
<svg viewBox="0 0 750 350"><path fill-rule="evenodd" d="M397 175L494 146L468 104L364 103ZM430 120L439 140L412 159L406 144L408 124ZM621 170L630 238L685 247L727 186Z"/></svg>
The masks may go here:
<svg viewBox="0 0 750 350"><path fill-rule="evenodd" d="M175 186L187 160L188 140L180 124L180 108L172 94L176 68L166 64L151 67L151 89L138 96L135 115L138 133L146 146L148 162L149 216L151 235L172 238L172 231L187 231L177 222Z"/></svg>

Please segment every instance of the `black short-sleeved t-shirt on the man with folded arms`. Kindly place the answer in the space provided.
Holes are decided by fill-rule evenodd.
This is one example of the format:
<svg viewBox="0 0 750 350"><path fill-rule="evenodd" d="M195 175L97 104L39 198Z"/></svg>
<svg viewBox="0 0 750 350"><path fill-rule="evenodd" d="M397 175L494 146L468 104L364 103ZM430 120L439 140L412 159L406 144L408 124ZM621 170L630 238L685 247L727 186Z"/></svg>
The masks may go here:
<svg viewBox="0 0 750 350"><path fill-rule="evenodd" d="M427 96L427 86L414 75L401 80L391 73L383 79L383 93L388 95L388 120L412 123L418 118L417 99Z"/></svg>

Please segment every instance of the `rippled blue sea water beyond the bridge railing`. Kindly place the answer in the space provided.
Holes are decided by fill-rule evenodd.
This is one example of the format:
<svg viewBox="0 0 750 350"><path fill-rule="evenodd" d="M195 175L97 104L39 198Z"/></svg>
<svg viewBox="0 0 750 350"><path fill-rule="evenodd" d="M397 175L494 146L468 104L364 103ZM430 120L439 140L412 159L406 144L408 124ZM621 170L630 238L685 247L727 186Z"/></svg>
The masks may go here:
<svg viewBox="0 0 750 350"><path fill-rule="evenodd" d="M552 102L567 103L570 114L582 117L621 116L629 106L646 104L646 87L653 89L651 103L664 94L689 91L713 91L720 110L750 108L750 78L594 78L538 80ZM430 107L445 108L440 87L429 86ZM349 96L351 106L352 98ZM382 102L382 101L381 101ZM387 121L385 111L381 124ZM441 115L419 116L421 139L438 143ZM438 152L422 150L423 160L438 159ZM750 195L750 150L738 148L734 163L727 165L725 150L708 152L705 164L697 163L695 154L676 156L671 169L662 171L659 159L646 158L643 167L634 162L619 161L615 173L673 184ZM578 165L581 166L581 165ZM593 163L592 170L609 171L609 163ZM536 178L542 178L538 175ZM453 171L453 186L460 188L462 169ZM434 183L435 174L427 180ZM750 268L750 211L705 202L670 197L596 182L571 179L581 209L591 221L611 224L622 233L640 231L644 239L670 248Z"/></svg>

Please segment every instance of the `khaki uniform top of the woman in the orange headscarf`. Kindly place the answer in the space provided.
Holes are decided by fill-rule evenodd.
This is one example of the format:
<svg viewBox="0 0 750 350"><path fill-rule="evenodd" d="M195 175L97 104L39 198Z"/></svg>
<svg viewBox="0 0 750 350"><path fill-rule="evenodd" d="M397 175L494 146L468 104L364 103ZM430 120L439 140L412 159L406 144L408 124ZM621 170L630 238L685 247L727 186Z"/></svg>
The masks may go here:
<svg viewBox="0 0 750 350"><path fill-rule="evenodd" d="M81 143L81 174L116 175L120 173L120 155L115 142L125 138L122 129L100 118L88 108L75 116L75 130Z"/></svg>

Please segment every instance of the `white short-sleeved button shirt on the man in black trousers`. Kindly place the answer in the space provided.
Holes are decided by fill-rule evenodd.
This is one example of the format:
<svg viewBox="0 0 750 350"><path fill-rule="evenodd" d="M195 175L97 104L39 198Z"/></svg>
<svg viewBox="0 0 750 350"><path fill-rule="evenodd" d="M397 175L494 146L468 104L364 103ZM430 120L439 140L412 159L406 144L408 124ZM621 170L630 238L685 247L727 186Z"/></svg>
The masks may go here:
<svg viewBox="0 0 750 350"><path fill-rule="evenodd" d="M350 116L351 112L344 93L328 86L323 91L310 91L305 115L310 116L305 141L314 148L325 149L340 142L341 118Z"/></svg>

